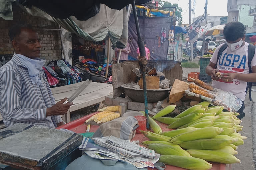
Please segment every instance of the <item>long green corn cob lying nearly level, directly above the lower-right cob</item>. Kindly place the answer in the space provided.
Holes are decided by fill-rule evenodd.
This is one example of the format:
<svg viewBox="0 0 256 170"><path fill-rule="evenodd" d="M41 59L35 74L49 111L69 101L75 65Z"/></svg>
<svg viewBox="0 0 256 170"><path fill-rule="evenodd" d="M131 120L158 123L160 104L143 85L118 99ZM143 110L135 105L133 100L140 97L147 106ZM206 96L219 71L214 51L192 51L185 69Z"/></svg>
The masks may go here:
<svg viewBox="0 0 256 170"><path fill-rule="evenodd" d="M224 146L230 145L238 141L235 138L222 139L222 138L211 138L211 139L199 139L188 142L180 143L180 147L184 149L221 149Z"/></svg>

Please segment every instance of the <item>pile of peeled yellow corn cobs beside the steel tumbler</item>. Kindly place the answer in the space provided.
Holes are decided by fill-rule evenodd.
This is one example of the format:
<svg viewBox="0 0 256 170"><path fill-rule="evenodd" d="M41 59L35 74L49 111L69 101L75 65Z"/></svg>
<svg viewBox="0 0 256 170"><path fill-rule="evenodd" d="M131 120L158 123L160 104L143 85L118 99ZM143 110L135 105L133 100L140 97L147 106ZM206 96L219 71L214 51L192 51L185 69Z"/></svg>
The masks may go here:
<svg viewBox="0 0 256 170"><path fill-rule="evenodd" d="M94 121L97 124L100 124L100 123L112 121L112 120L120 117L119 113L115 113L118 111L118 106L108 106L103 109L99 109L98 111L100 111L100 113L97 113L97 114L91 116L89 119L87 119L85 121L85 123Z"/></svg>

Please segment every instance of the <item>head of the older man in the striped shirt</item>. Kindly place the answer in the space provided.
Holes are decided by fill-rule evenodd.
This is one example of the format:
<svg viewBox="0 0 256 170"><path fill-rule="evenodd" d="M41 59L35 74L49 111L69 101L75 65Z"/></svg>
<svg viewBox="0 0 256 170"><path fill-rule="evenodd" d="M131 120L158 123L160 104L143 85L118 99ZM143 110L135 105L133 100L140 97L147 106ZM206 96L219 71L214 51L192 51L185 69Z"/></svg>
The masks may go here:
<svg viewBox="0 0 256 170"><path fill-rule="evenodd" d="M31 59L41 56L40 38L37 32L30 29L22 29L20 34L12 41L17 54L22 54Z"/></svg>

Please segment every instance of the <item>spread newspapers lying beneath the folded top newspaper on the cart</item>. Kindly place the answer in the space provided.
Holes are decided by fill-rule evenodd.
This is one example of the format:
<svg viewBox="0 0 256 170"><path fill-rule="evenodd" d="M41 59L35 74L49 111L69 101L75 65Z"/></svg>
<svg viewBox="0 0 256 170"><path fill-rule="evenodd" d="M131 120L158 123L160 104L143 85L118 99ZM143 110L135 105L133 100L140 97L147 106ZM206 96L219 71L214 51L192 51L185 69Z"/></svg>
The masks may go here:
<svg viewBox="0 0 256 170"><path fill-rule="evenodd" d="M106 141L109 138L109 136L106 136L101 138L93 138L92 140L90 138L84 137L82 144L79 146L79 149L83 150L84 153L95 159L121 160L128 162L137 168L154 168L154 164L159 160L160 154L154 154L154 156L152 156L153 158L146 157L144 155L134 153L107 143Z"/></svg>

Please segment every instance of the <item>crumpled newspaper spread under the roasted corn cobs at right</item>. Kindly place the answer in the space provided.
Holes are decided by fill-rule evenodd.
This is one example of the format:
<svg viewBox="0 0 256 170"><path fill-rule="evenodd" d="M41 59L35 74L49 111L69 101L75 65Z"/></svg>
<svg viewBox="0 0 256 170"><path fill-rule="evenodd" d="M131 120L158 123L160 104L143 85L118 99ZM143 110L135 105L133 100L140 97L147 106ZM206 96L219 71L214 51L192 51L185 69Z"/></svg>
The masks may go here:
<svg viewBox="0 0 256 170"><path fill-rule="evenodd" d="M201 87L202 88L202 87ZM205 89L207 90L207 89ZM207 90L209 93L215 95L215 99L211 99L193 92L186 90L185 93L189 96L199 97L211 103L213 106L223 106L230 112L236 112L242 107L242 100L233 95L230 92L226 92L220 89L214 89L213 91Z"/></svg>

